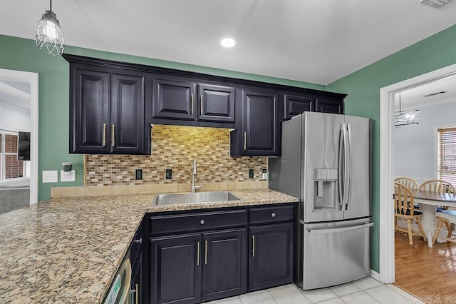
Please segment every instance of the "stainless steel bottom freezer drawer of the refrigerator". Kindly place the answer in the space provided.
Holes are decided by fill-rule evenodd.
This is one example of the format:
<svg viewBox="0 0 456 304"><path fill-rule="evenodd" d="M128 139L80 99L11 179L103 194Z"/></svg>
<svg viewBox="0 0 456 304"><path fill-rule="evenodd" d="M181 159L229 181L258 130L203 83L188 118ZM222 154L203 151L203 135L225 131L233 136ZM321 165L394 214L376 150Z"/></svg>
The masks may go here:
<svg viewBox="0 0 456 304"><path fill-rule="evenodd" d="M370 275L371 226L371 218L301 223L304 241L299 286L304 290L323 288Z"/></svg>

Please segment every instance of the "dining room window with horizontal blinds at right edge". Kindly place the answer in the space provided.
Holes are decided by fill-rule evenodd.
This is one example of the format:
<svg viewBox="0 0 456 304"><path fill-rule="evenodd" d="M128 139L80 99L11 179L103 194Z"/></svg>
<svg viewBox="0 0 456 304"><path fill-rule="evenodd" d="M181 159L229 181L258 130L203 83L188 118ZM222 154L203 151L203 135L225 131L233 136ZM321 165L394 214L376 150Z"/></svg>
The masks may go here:
<svg viewBox="0 0 456 304"><path fill-rule="evenodd" d="M456 127L438 129L437 178L456 186Z"/></svg>

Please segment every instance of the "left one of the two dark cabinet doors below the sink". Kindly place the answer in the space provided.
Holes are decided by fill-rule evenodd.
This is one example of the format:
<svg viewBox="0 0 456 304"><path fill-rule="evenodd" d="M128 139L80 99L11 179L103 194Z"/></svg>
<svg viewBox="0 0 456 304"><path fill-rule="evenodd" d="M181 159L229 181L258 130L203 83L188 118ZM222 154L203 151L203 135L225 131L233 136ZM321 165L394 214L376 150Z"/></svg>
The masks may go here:
<svg viewBox="0 0 456 304"><path fill-rule="evenodd" d="M200 234L150 239L150 303L199 303Z"/></svg>

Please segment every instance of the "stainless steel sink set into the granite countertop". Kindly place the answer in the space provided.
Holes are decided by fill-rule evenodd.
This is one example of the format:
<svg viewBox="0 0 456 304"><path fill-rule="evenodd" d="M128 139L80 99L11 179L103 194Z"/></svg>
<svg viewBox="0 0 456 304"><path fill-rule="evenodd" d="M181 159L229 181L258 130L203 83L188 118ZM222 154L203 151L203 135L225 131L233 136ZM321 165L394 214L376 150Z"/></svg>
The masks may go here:
<svg viewBox="0 0 456 304"><path fill-rule="evenodd" d="M197 192L197 193L166 193L159 194L152 205L172 205L183 203L222 203L226 201L240 201L228 191Z"/></svg>

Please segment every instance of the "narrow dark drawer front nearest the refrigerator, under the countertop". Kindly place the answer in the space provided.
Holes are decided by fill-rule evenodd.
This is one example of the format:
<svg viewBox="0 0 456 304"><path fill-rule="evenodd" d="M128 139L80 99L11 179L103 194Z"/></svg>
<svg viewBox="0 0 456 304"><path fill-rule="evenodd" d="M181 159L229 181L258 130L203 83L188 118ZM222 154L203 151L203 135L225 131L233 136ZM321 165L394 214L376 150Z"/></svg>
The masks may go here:
<svg viewBox="0 0 456 304"><path fill-rule="evenodd" d="M249 210L249 223L274 223L293 221L293 205L277 205L268 207L251 208Z"/></svg>

